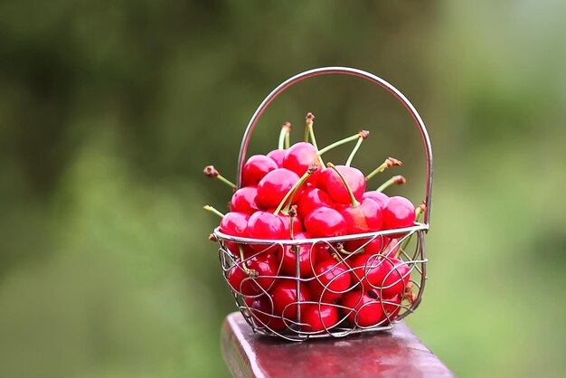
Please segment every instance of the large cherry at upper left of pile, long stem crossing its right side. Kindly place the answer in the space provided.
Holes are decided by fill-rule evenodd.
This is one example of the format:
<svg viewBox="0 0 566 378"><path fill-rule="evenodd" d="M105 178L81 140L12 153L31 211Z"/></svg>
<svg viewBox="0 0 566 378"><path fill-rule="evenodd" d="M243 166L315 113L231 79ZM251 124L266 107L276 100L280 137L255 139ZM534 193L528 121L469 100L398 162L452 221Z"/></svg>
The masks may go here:
<svg viewBox="0 0 566 378"><path fill-rule="evenodd" d="M297 183L299 177L288 169L278 168L265 175L258 184L258 203L266 208L278 207L289 189ZM297 203L302 189L298 188L297 194L293 198L293 203Z"/></svg>

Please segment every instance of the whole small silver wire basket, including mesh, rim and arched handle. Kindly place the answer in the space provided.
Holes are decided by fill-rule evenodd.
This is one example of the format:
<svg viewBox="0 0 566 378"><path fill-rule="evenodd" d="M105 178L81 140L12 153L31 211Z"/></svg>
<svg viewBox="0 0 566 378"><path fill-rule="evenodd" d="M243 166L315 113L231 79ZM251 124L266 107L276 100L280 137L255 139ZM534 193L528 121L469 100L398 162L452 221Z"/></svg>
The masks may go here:
<svg viewBox="0 0 566 378"><path fill-rule="evenodd" d="M370 80L388 90L408 109L420 130L427 158L424 219L403 229L324 239L259 240L235 237L215 229L222 275L247 323L254 332L292 341L391 329L420 305L427 279L424 235L429 231L432 189L429 135L410 101L372 73L326 67L299 73L282 82L250 118L241 142L238 185L241 186L251 133L269 103L298 81L325 74ZM346 244L355 248L345 250ZM364 259L360 261L362 252ZM315 266L314 256L320 254L328 254L332 259L326 260L324 266ZM285 256L292 260L290 268ZM269 273L258 273L266 269L254 268L267 263L266 260L271 265ZM285 294L283 300L273 298L275 286L281 286L278 292Z"/></svg>

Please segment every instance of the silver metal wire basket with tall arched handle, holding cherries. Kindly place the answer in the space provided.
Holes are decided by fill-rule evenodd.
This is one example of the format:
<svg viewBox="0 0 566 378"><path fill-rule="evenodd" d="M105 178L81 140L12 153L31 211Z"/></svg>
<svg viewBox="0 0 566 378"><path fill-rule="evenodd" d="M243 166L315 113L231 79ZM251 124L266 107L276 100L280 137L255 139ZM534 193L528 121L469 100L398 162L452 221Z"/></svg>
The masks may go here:
<svg viewBox="0 0 566 378"><path fill-rule="evenodd" d="M253 129L255 128L259 117L269 103L278 97L278 95L289 86L297 83L298 81L305 80L318 75L326 74L344 74L361 77L378 84L383 89L388 90L393 94L401 103L409 110L410 115L415 120L422 140L425 145L425 152L427 158L427 184L423 222L414 222L414 225L404 229L386 230L380 232L370 232L363 234L354 234L325 239L307 239L307 240L257 240L248 238L239 238L220 232L219 228L214 230L214 237L219 244L219 257L222 266L222 275L236 300L236 304L241 311L241 314L246 319L248 324L259 334L275 335L292 341L303 341L308 338L317 337L343 337L368 331L380 331L391 329L393 324L403 317L412 313L419 305L422 298L426 277L427 259L425 256L424 248L424 234L429 231L429 214L430 214L430 201L432 189L432 151L430 147L429 135L427 129L420 118L417 110L410 104L410 101L403 96L403 94L395 89L390 83L366 71L360 71L346 67L326 67L315 70L305 71L293 76L292 78L282 82L275 90L269 93L268 97L261 102L259 108L255 111L250 118L250 122L244 133L240 156L238 159L238 185L241 186L241 173L242 167L246 160L246 152L250 137ZM391 245L391 238L397 238L397 243ZM387 241L390 240L388 244ZM356 250L350 250L349 254L344 254L343 245L347 241L358 241L359 246ZM373 250L373 257L367 260L363 267L352 268L352 262L358 255L360 250L368 245L378 245L377 249ZM300 259L299 250L307 249L310 256L316 250L324 250L328 253L333 253L335 256L335 265L329 269L340 265L344 269L341 273L334 278L323 279L328 270L314 274L313 261L310 260L311 275L301 277L300 273ZM246 250L244 260L241 260L241 254L237 253L239 250ZM274 275L249 275L241 281L239 288L231 286L229 275L231 270L240 270L248 272L246 263L249 263L255 257L272 253L273 250L291 249L295 253L295 274L284 274L281 271L282 262L278 261L277 274ZM378 267L380 264L393 264L391 258L392 252L398 255L398 260L395 266L389 272L380 284L374 284L367 279L372 269ZM401 262L400 262L401 260ZM356 269L356 271L354 271ZM355 275L354 275L355 274ZM352 284L348 288L336 289L332 283L336 279L340 279L342 275L350 275ZM357 278L357 282L356 282ZM324 280L324 282L323 282ZM269 291L277 282L287 281L288 286L294 291L295 300L291 300L288 305L282 309L275 309L273 298L269 295ZM364 281L365 286L362 286ZM369 283L369 285L367 285ZM253 285L255 290L246 290ZM387 298L388 289L397 285L402 285L401 296ZM306 286L316 286L318 289L316 298L302 298L301 290ZM370 288L371 287L371 288ZM341 301L329 301L326 298L340 297L346 292L353 292L355 290L368 290L368 295L371 293L373 301L362 303L363 296L360 294L359 299L350 301L344 304ZM250 292L252 291L252 292ZM325 297L326 296L326 297ZM353 296L351 296L353 297ZM355 297L354 297L355 298ZM329 303L326 303L329 302ZM256 306L260 303L261 306ZM324 319L321 317L320 326L316 329L307 324L301 317L305 312L306 306L316 306L319 311L327 307L335 307L338 314L338 319L333 322L331 326L326 326ZM367 315L373 315L373 321L368 324L363 321ZM379 317L376 316L379 314ZM312 322L311 322L312 324Z"/></svg>

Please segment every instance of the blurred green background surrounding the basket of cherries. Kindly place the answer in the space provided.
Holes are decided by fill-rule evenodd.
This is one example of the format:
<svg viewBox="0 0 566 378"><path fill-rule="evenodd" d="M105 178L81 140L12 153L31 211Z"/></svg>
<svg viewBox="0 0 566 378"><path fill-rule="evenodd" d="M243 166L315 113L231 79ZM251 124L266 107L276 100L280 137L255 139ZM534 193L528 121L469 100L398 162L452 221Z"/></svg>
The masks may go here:
<svg viewBox="0 0 566 378"><path fill-rule="evenodd" d="M326 65L389 80L429 128L415 333L462 377L564 376L565 18L558 0L0 2L0 376L228 376L202 206L230 191L201 172L234 178L259 102ZM307 111L321 145L370 129L354 165L400 158L393 192L420 202L419 133L364 80L288 90L251 153L287 120L298 140Z"/></svg>

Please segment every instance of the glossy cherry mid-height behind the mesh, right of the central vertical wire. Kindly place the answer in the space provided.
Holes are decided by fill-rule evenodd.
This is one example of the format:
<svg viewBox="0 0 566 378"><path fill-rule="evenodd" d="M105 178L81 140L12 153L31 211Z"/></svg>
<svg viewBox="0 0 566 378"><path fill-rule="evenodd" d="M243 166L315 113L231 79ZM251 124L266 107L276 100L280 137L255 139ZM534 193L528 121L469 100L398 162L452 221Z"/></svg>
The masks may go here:
<svg viewBox="0 0 566 378"><path fill-rule="evenodd" d="M324 260L316 264L315 279L308 284L312 298L330 303L350 287L351 279L347 265L336 260Z"/></svg>

